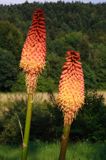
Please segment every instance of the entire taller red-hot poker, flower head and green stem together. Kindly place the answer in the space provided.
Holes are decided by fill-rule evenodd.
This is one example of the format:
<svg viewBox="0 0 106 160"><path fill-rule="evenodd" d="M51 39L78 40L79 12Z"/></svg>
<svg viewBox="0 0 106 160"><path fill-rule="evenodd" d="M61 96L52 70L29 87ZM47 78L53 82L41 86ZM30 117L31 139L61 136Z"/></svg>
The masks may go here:
<svg viewBox="0 0 106 160"><path fill-rule="evenodd" d="M39 73L45 66L46 57L46 27L44 12L37 9L33 14L32 25L24 43L20 67L26 73L28 106L23 140L22 160L27 160L30 124L32 117L33 93L37 85Z"/></svg>

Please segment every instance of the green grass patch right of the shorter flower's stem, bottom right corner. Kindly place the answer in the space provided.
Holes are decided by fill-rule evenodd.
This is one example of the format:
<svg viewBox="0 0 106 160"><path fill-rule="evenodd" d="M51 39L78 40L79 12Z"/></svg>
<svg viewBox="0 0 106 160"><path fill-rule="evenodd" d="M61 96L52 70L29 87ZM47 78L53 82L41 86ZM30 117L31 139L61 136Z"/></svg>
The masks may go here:
<svg viewBox="0 0 106 160"><path fill-rule="evenodd" d="M106 160L106 144L80 142L70 145L66 160Z"/></svg>

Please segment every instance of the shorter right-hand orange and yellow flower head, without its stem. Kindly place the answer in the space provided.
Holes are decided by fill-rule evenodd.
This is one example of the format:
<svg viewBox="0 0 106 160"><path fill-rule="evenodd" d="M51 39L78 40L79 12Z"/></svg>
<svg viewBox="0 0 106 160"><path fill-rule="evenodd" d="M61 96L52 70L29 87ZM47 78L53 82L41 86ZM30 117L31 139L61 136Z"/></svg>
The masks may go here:
<svg viewBox="0 0 106 160"><path fill-rule="evenodd" d="M66 62L63 66L59 82L57 101L64 113L64 124L71 124L75 114L84 103L84 76L78 52L66 52Z"/></svg>

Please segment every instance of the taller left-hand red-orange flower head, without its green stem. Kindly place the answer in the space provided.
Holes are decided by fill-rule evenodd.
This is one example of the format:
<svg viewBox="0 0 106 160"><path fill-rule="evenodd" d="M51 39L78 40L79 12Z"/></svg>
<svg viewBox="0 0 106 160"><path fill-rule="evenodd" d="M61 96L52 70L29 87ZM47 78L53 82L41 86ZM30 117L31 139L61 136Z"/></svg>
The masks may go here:
<svg viewBox="0 0 106 160"><path fill-rule="evenodd" d="M26 73L28 93L32 93L38 74L45 66L46 57L46 27L44 12L37 9L33 14L32 25L24 43L20 67Z"/></svg>

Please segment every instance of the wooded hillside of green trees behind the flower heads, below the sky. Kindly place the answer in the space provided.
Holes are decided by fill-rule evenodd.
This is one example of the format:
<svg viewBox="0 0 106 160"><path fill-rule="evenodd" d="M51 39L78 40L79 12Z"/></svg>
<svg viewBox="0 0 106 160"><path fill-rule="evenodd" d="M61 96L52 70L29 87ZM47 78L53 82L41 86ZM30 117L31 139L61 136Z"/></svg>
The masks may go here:
<svg viewBox="0 0 106 160"><path fill-rule="evenodd" d="M0 91L25 91L19 61L36 8L45 11L47 62L38 91L57 91L67 49L81 54L87 89L106 89L106 3L0 5Z"/></svg>

